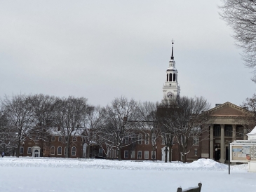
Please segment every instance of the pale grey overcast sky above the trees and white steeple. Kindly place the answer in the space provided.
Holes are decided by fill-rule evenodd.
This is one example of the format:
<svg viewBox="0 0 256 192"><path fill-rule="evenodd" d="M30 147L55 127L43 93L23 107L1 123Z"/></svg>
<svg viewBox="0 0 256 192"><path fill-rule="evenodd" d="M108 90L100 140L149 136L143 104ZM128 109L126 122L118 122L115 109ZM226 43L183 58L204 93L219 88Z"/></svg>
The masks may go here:
<svg viewBox="0 0 256 192"><path fill-rule="evenodd" d="M217 0L0 1L0 97L43 93L105 106L161 101L171 40L181 95L241 104L255 83Z"/></svg>

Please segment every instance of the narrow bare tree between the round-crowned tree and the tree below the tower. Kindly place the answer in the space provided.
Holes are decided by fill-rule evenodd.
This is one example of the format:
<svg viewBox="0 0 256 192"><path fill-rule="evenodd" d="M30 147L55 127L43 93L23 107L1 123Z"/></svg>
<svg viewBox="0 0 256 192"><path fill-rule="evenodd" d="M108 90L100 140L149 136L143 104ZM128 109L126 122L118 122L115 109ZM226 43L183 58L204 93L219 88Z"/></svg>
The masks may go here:
<svg viewBox="0 0 256 192"><path fill-rule="evenodd" d="M154 102L143 102L140 104L140 127L145 135L145 142L150 143L153 149L153 161L155 160L156 141L161 135L161 129L158 125L157 107Z"/></svg>

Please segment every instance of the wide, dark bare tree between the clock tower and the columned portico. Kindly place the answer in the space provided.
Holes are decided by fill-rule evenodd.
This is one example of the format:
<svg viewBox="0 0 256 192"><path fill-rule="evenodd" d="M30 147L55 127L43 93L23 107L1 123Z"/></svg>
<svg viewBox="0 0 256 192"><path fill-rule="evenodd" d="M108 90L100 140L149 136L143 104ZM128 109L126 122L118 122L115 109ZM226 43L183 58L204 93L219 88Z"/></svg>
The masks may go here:
<svg viewBox="0 0 256 192"><path fill-rule="evenodd" d="M176 97L168 104L165 125L173 130L184 163L187 153L194 145L194 139L206 131L203 125L208 123L210 116L204 111L208 109L210 104L203 97Z"/></svg>

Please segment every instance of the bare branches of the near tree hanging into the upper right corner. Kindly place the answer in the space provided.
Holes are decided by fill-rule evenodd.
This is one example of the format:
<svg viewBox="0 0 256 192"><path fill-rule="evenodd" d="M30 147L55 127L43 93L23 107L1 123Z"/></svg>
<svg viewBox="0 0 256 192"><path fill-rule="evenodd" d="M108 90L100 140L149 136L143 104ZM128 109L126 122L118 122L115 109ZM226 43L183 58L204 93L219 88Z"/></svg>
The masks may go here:
<svg viewBox="0 0 256 192"><path fill-rule="evenodd" d="M234 30L236 45L243 50L245 66L256 66L256 1L222 0L220 16ZM256 81L256 76L252 78Z"/></svg>

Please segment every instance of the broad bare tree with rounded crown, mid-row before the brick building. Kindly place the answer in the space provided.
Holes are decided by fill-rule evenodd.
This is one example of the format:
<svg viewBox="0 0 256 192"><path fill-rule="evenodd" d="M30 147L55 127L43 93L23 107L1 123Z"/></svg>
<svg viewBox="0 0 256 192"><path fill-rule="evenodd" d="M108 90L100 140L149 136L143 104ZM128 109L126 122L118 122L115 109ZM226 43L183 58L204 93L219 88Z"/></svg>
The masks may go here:
<svg viewBox="0 0 256 192"><path fill-rule="evenodd" d="M135 138L138 116L139 103L126 97L114 99L105 109L105 125L102 126L101 137L109 146L119 151L119 160L121 149L130 145L130 142L126 144L125 140Z"/></svg>

